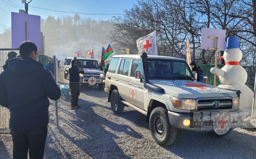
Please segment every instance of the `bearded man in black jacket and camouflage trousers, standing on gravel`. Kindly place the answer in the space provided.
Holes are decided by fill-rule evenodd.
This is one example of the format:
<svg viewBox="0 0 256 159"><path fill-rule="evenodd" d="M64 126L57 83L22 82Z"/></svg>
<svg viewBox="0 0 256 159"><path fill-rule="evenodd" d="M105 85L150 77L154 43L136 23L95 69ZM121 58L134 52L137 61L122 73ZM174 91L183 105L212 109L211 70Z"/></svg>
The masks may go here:
<svg viewBox="0 0 256 159"><path fill-rule="evenodd" d="M74 59L71 61L71 68L69 68L69 88L71 93L71 108L79 109L81 106L78 105L78 97L80 95L80 76L79 74L83 74L83 68L77 68L77 60Z"/></svg>

